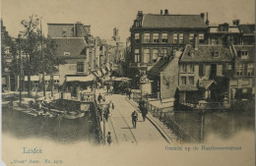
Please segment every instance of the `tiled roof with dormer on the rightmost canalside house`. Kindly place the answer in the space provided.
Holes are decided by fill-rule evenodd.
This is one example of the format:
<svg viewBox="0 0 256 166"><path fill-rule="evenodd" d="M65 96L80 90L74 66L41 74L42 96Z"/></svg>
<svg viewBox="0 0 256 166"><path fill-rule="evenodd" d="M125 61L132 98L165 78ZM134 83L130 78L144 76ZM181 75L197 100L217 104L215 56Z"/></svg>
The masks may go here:
<svg viewBox="0 0 256 166"><path fill-rule="evenodd" d="M255 46L254 45L234 45L235 49L235 60L241 60L241 61L250 61L254 62L255 60ZM239 51L248 51L249 58L242 60L239 55Z"/></svg>

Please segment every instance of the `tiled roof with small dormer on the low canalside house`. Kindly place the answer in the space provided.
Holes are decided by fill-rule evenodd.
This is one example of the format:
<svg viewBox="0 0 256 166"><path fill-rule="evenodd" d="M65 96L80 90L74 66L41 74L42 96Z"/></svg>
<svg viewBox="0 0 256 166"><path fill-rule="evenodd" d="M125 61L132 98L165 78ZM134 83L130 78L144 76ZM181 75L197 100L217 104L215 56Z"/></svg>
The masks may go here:
<svg viewBox="0 0 256 166"><path fill-rule="evenodd" d="M214 52L219 52L219 57L214 57ZM228 62L232 54L229 48L219 45L199 45L198 50L187 45L180 62Z"/></svg>

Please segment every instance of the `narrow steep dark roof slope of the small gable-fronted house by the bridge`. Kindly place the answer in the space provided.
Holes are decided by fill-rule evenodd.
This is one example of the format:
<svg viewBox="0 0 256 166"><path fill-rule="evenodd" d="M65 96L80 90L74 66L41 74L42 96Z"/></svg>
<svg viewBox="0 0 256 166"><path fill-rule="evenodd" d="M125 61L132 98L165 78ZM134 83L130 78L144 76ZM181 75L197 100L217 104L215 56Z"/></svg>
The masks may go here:
<svg viewBox="0 0 256 166"><path fill-rule="evenodd" d="M160 60L149 70L149 77L159 77L160 72L163 71L164 67L168 64L169 61L170 60L168 57L161 57Z"/></svg>

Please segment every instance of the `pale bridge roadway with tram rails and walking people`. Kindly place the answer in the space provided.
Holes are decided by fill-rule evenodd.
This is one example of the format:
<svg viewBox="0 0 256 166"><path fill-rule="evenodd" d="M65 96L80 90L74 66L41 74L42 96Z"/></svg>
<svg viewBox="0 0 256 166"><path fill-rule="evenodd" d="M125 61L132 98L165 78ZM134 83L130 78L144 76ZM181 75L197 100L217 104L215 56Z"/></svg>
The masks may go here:
<svg viewBox="0 0 256 166"><path fill-rule="evenodd" d="M103 89L96 89L96 96L99 94L105 98L105 103L110 101L114 103L114 109L110 109L108 121L100 121L100 128L104 136L107 132L111 133L112 143L140 143L143 141L160 141L174 143L176 137L171 134L170 130L152 115L148 114L147 119L143 122L142 115L138 109L137 103L126 98L121 94L109 94ZM133 129L131 114L137 111L139 117L137 128Z"/></svg>

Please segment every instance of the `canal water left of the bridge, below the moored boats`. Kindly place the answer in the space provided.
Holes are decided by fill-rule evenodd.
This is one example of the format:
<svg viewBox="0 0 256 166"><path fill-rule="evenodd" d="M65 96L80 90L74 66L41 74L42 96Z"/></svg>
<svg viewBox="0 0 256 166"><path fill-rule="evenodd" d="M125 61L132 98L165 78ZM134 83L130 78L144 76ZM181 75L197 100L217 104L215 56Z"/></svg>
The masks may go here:
<svg viewBox="0 0 256 166"><path fill-rule="evenodd" d="M79 119L59 119L2 108L2 133L15 138L46 138L60 142L86 140L97 143L96 123L89 115Z"/></svg>

